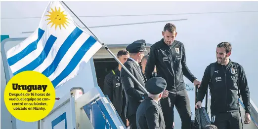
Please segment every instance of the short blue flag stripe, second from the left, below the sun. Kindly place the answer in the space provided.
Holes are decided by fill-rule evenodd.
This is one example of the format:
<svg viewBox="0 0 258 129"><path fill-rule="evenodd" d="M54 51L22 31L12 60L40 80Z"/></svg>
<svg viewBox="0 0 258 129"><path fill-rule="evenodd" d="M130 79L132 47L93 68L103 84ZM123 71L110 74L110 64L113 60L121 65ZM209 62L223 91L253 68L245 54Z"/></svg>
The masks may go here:
<svg viewBox="0 0 258 129"><path fill-rule="evenodd" d="M14 72L13 75L20 73L22 71L34 70L39 65L41 65L43 63L43 61L45 60L45 58L47 57L48 53L50 52L55 40L56 40L56 37L53 35L50 35L45 43L45 47L44 47L43 51L41 52L40 56L38 58L36 58L34 61L32 61L30 64L26 65L25 67L21 68L20 70L18 70L16 72Z"/></svg>

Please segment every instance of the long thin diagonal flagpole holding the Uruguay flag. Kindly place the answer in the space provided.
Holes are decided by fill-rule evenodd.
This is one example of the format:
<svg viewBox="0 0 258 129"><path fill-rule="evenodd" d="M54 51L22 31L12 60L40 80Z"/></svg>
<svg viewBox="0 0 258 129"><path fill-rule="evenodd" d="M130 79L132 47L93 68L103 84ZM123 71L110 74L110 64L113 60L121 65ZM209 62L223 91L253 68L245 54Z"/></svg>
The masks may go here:
<svg viewBox="0 0 258 129"><path fill-rule="evenodd" d="M68 5L62 1L62 3L75 15L75 17L88 29L89 32L91 32L91 30L84 24L84 22L72 11L72 9L70 9L68 7ZM109 48L107 47L107 45L105 45L104 43L102 43L99 38L97 38L97 36L91 32L93 34L93 36L96 38L96 40L101 43L102 47L104 47L111 55L112 57L115 58L115 60L128 72L128 74L133 78L133 80L142 88L142 90L147 94L147 90L140 84L140 82L129 72L129 70L125 67L125 65L123 65L118 59L117 57L109 50Z"/></svg>

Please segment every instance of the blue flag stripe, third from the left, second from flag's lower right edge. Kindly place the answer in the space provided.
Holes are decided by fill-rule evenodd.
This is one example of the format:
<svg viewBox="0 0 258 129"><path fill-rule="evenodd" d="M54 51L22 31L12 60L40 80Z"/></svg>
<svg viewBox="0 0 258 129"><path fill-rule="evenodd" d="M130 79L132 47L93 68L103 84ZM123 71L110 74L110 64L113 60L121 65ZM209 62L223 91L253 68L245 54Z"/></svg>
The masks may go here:
<svg viewBox="0 0 258 129"><path fill-rule="evenodd" d="M66 38L64 43L59 48L54 61L49 65L43 72L46 77L49 77L57 68L60 61L63 59L64 55L68 51L68 49L72 46L75 40L83 33L81 29L76 27L76 29Z"/></svg>

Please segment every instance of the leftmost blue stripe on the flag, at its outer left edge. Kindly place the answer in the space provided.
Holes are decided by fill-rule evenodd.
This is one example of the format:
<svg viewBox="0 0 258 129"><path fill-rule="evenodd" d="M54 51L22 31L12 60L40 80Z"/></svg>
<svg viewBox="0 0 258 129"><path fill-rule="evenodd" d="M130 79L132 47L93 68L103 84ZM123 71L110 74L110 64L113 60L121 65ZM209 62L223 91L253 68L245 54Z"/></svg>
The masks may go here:
<svg viewBox="0 0 258 129"><path fill-rule="evenodd" d="M40 41L41 37L43 36L45 31L41 30L39 28L38 30L38 39L34 42L32 42L31 44L29 44L25 49L23 49L21 52L19 52L18 54L10 57L7 59L9 66L17 63L18 61L20 61L22 58L26 57L28 54L30 54L31 52L33 52L34 50L36 50L38 42Z"/></svg>

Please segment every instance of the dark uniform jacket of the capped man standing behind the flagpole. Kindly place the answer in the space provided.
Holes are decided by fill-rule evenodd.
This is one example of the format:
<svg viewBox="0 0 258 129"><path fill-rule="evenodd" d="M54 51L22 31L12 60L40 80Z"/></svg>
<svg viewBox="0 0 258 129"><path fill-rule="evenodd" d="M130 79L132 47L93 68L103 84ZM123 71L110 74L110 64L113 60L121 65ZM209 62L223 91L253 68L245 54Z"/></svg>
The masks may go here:
<svg viewBox="0 0 258 129"><path fill-rule="evenodd" d="M137 79L137 81L145 88L145 83L147 82L145 75L142 73L139 64L130 58L124 64L129 72ZM121 83L126 94L126 107L125 115L128 118L131 115L135 115L138 106L146 97L144 90L133 80L133 78L127 73L127 71L122 67L121 69Z"/></svg>

